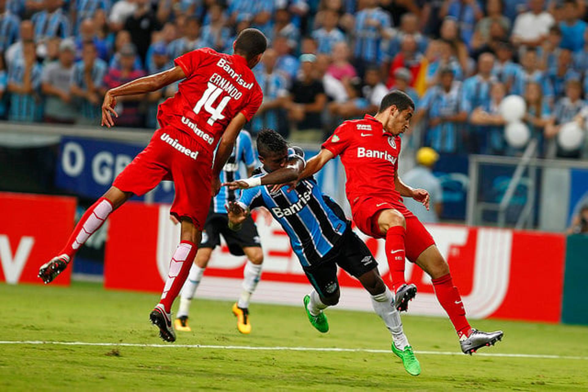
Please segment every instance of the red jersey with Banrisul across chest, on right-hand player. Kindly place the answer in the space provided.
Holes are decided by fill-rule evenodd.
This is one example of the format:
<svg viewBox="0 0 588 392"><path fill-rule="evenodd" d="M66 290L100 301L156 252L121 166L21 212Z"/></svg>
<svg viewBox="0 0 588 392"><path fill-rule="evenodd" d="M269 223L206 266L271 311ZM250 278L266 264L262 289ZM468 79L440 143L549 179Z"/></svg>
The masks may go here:
<svg viewBox="0 0 588 392"><path fill-rule="evenodd" d="M322 148L341 156L347 175L345 190L352 207L366 197L402 202L394 188L400 137L386 132L381 122L370 115L362 120L346 121L335 129Z"/></svg>

